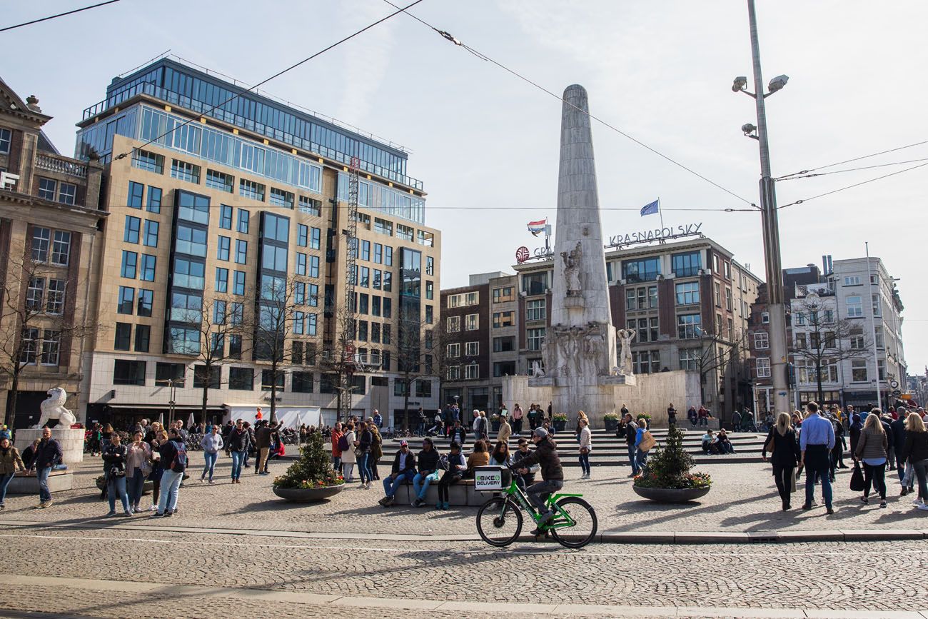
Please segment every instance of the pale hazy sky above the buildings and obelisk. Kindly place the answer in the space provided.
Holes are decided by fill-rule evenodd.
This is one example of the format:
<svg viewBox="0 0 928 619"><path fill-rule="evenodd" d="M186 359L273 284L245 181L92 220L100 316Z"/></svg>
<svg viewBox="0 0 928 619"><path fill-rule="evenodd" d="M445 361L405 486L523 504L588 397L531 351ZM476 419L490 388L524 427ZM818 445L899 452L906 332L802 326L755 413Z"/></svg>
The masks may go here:
<svg viewBox="0 0 928 619"><path fill-rule="evenodd" d="M8 3L0 27L89 4ZM164 8L122 0L2 32L0 77L39 97L55 117L46 133L71 154L74 123L112 77L166 50L255 84L394 10L383 0ZM738 196L594 123L605 238L656 227L654 215L610 209L660 198L665 225L701 222L764 278L759 214L721 211L759 202L757 142L740 129L756 124L754 100L731 92L737 75L753 83L746 0L423 0L410 12L559 96L583 84L593 115ZM757 17L765 84L790 77L767 98L774 176L928 140L928 4L758 0ZM263 89L406 147L407 174L428 192L426 223L443 231L443 288L466 285L470 273L511 272L518 247L540 244L526 223L555 219L560 100L415 19L389 19ZM922 144L822 172L926 158ZM778 201L922 162L780 181ZM909 373L928 366L926 180L928 166L779 212L784 267L859 257L870 242L899 278Z"/></svg>

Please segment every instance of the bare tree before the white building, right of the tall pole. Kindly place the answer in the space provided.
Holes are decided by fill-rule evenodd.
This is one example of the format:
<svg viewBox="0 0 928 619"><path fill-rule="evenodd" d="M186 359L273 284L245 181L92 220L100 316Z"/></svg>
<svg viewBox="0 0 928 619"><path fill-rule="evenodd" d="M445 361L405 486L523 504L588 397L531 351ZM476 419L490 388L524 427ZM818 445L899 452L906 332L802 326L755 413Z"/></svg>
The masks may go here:
<svg viewBox="0 0 928 619"><path fill-rule="evenodd" d="M821 402L825 399L822 382L838 380L838 363L865 354L872 342L859 323L836 318L834 308L814 292L795 306L792 322L794 337L790 354L793 359L811 362L818 402ZM831 367L835 367L835 376L828 377Z"/></svg>

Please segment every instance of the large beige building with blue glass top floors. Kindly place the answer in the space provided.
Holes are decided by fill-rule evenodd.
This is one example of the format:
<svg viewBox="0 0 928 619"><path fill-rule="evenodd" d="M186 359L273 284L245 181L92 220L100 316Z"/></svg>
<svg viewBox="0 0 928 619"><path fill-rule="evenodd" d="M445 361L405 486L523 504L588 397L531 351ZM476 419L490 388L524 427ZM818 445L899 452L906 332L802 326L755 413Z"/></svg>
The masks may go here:
<svg viewBox="0 0 928 619"><path fill-rule="evenodd" d="M247 417L276 382L278 417L332 422L356 157L353 410L400 423L396 345L410 325L424 345L441 256L402 148L167 58L115 80L79 126L77 152L105 165L110 213L90 309L112 329L86 360L88 420L166 419L174 402L200 421L204 383L207 420ZM422 374L409 405L433 408Z"/></svg>

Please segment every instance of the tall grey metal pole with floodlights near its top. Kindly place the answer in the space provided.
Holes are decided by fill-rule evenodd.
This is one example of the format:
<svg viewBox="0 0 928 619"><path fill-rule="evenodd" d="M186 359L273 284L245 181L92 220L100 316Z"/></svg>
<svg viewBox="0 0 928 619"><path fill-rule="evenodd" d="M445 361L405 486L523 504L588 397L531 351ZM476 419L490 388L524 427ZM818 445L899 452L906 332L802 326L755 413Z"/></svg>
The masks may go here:
<svg viewBox="0 0 928 619"><path fill-rule="evenodd" d="M746 77L736 77L731 90L754 97L757 108L757 126L745 123L741 131L757 140L760 146L760 209L764 228L764 265L767 268L767 311L770 313L770 376L773 379L774 406L777 411L790 410L787 381L788 359L786 345L786 312L783 294L783 271L780 260L780 225L777 221L777 196L770 174L770 148L767 144L767 111L764 99L782 89L789 78L778 75L767 84L760 71L760 49L757 43L757 16L754 0L748 0L748 19L751 24L751 52L754 57L754 92L747 90ZM754 133L756 132L756 133Z"/></svg>

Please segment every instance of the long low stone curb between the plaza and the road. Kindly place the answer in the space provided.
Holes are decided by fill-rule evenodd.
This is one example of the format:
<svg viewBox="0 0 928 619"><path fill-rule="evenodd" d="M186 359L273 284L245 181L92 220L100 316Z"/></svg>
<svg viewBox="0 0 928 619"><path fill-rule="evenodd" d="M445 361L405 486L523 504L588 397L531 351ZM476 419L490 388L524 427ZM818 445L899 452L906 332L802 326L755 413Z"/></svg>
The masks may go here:
<svg viewBox="0 0 928 619"><path fill-rule="evenodd" d="M258 535L262 537L290 537L299 539L342 539L343 535L330 532L270 531L264 529L215 529L195 526L143 526L140 524L110 524L109 522L37 522L0 520L0 526L28 527L34 529L106 529L119 531L157 531L169 533L191 533L210 535ZM382 534L377 539L396 542L482 542L480 535L403 535ZM804 542L882 542L928 539L928 530L890 529L847 529L831 531L625 531L596 535L600 544L777 544ZM535 535L522 534L520 542L556 543Z"/></svg>

